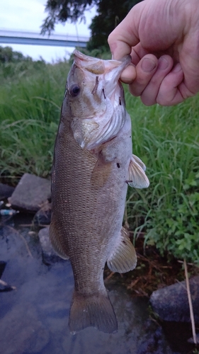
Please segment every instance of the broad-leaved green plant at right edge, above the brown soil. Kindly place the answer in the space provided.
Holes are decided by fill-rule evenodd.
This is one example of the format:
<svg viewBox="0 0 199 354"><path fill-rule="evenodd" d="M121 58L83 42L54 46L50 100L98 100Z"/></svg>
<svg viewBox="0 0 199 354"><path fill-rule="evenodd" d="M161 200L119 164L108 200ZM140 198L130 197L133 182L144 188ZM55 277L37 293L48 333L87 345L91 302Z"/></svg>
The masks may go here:
<svg viewBox="0 0 199 354"><path fill-rule="evenodd" d="M199 264L199 173L191 173L185 183L166 210L160 205L149 213L146 242L154 243L161 254L168 251Z"/></svg>

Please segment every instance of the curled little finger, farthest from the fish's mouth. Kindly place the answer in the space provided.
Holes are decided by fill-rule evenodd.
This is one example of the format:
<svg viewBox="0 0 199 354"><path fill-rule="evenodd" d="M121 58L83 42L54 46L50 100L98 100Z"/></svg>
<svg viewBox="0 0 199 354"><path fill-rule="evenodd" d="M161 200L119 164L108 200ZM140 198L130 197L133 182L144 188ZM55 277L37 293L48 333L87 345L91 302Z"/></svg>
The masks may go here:
<svg viewBox="0 0 199 354"><path fill-rule="evenodd" d="M174 69L162 80L157 94L159 105L176 105L183 102L184 98L178 88L183 81L183 70L181 64L176 64Z"/></svg>

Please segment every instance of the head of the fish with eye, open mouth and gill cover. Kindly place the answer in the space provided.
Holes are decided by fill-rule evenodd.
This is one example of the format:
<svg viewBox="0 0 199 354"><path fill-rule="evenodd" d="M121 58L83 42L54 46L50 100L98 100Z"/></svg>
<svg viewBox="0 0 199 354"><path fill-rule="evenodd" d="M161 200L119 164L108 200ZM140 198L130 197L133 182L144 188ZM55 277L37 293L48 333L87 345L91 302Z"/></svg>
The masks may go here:
<svg viewBox="0 0 199 354"><path fill-rule="evenodd" d="M95 149L113 139L124 125L125 101L119 79L130 60L130 56L121 61L103 60L74 51L65 98L74 139L82 148ZM115 115L121 106L123 112Z"/></svg>

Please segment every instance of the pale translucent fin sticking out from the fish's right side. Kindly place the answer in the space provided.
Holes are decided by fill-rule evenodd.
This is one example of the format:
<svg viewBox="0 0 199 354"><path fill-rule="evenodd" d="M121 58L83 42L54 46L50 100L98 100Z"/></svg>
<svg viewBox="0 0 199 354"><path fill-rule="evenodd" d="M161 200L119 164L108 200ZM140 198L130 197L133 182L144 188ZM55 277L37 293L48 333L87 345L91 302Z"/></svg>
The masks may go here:
<svg viewBox="0 0 199 354"><path fill-rule="evenodd" d="M128 170L127 184L134 188L147 188L149 187L149 179L144 172L146 166L139 159L139 157L132 155L130 159L130 166Z"/></svg>

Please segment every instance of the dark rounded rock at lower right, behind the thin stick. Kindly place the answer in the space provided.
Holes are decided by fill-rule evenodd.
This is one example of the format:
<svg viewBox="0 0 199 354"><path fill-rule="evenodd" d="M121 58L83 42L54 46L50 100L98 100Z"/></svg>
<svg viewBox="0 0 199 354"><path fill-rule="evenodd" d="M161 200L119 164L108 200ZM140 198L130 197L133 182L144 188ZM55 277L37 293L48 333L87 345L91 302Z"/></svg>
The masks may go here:
<svg viewBox="0 0 199 354"><path fill-rule="evenodd" d="M199 276L190 279L190 290L195 322L199 324ZM152 292L150 303L164 321L190 321L185 281Z"/></svg>

